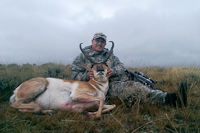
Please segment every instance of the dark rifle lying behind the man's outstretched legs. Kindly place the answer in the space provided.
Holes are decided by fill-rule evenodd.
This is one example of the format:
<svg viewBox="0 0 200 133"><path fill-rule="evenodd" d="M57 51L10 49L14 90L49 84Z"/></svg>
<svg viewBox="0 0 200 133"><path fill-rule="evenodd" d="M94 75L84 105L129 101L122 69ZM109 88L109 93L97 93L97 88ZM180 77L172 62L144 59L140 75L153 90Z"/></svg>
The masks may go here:
<svg viewBox="0 0 200 133"><path fill-rule="evenodd" d="M150 79L149 77L147 77L146 75L144 75L141 72L135 71L134 73L129 71L129 70L125 70L125 72L130 74L130 78L132 80L134 80L135 82L140 82L144 85L147 85L149 87L151 87L153 90L161 90L157 87L155 87L153 84L157 84L157 81ZM162 90L161 90L162 91Z"/></svg>

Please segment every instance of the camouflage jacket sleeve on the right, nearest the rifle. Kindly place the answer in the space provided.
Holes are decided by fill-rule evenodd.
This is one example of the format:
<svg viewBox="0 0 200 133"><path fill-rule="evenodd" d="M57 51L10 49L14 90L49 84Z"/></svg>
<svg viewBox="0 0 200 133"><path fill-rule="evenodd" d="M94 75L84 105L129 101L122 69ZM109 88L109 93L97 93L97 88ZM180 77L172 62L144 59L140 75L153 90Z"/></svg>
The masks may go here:
<svg viewBox="0 0 200 133"><path fill-rule="evenodd" d="M113 76L120 76L122 74L124 74L125 71L125 67L124 64L120 62L119 58L114 56L114 61L113 61L113 65L112 65L112 69L113 69Z"/></svg>

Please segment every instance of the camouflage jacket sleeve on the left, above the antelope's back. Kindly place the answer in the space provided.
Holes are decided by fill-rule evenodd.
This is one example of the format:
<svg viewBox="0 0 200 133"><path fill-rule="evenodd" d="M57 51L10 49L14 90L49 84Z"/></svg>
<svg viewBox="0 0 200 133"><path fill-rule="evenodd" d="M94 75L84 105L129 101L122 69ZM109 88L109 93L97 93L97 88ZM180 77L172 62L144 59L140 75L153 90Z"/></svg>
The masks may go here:
<svg viewBox="0 0 200 133"><path fill-rule="evenodd" d="M71 79L72 80L80 80L80 81L89 81L89 79L90 79L89 73L81 65L81 61L83 61L83 57L80 54L72 62Z"/></svg>

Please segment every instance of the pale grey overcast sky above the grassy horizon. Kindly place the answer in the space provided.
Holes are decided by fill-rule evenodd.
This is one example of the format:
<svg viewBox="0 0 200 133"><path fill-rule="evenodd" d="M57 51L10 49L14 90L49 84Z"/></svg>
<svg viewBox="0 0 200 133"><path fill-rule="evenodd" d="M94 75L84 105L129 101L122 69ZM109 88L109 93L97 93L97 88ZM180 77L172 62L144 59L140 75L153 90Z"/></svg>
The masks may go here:
<svg viewBox="0 0 200 133"><path fill-rule="evenodd" d="M126 66L200 66L200 0L0 0L1 64L71 64L96 32Z"/></svg>

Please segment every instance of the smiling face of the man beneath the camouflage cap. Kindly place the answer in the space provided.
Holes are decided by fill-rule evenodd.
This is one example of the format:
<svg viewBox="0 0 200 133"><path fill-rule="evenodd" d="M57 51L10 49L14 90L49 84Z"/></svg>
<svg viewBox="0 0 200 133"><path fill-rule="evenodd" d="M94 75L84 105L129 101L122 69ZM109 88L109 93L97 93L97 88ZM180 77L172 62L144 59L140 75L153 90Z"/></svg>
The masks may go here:
<svg viewBox="0 0 200 133"><path fill-rule="evenodd" d="M106 42L101 38L92 40L92 50L93 51L101 52L105 48L105 46L106 46Z"/></svg>

